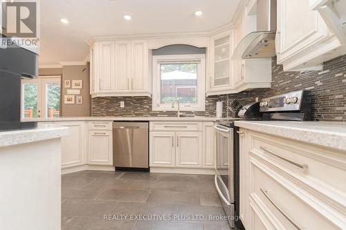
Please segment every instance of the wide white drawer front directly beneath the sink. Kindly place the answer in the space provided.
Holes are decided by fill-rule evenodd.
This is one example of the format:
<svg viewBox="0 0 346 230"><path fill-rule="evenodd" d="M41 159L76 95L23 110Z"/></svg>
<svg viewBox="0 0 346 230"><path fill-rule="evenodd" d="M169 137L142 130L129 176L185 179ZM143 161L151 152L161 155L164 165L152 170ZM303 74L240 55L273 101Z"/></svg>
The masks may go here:
<svg viewBox="0 0 346 230"><path fill-rule="evenodd" d="M150 131L202 131L201 122L150 122Z"/></svg>

